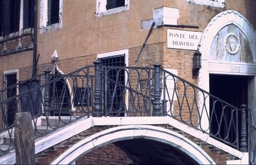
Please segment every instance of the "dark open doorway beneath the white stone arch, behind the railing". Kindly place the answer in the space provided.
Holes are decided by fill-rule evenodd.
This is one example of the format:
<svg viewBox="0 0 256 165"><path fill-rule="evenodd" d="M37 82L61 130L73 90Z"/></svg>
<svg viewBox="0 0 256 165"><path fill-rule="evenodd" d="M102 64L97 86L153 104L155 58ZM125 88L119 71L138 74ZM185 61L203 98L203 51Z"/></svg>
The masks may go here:
<svg viewBox="0 0 256 165"><path fill-rule="evenodd" d="M209 76L209 85L210 85L210 93L216 97L219 97L223 101L226 101L233 106L239 108L242 104L248 104L248 76L239 76L239 75L215 75L210 74ZM212 113L212 100L210 101L210 114ZM220 104L214 104L214 112L216 115L214 117L211 116L211 133L217 134L220 131L219 136L225 137L227 136L228 128L225 127L225 122L229 122L232 120L230 117L234 115L234 122L238 123L238 130L235 127L231 127L228 134L228 142L235 143L236 134L238 134L239 138L240 130L241 130L241 111L238 111L238 115L236 113L231 113L230 111L225 111L223 115L225 115L225 122L222 121L220 124L221 113L223 109L220 108ZM218 122L219 121L219 122ZM221 127L218 129L218 127Z"/></svg>

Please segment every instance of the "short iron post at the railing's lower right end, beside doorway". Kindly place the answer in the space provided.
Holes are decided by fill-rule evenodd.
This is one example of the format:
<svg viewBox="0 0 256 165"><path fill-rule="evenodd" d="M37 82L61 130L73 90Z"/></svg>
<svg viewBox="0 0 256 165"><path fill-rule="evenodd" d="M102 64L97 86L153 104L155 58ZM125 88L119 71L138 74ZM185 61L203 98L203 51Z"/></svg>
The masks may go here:
<svg viewBox="0 0 256 165"><path fill-rule="evenodd" d="M241 105L241 143L240 143L240 151L247 152L247 127L246 127L246 111L247 106L245 104Z"/></svg>

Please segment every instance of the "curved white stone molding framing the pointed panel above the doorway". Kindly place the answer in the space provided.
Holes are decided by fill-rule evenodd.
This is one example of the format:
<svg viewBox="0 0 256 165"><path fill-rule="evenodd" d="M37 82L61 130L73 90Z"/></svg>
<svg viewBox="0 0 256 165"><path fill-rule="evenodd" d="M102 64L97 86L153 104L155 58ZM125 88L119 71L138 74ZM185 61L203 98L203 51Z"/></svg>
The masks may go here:
<svg viewBox="0 0 256 165"><path fill-rule="evenodd" d="M214 18L212 18L211 22L209 22L205 28L202 39L200 41L200 52L202 52L203 61L209 59L211 44L216 34L218 34L218 32L223 27L230 24L234 24L244 33L248 39L248 42L250 43L253 62L256 61L256 32L250 22L243 15L234 10L227 10L219 13Z"/></svg>

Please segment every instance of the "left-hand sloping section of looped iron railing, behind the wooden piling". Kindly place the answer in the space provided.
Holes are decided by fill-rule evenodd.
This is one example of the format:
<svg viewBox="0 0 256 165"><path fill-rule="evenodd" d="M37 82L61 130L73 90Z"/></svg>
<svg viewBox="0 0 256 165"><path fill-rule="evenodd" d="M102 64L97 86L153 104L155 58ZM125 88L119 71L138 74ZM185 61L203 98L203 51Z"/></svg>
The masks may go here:
<svg viewBox="0 0 256 165"><path fill-rule="evenodd" d="M13 148L15 143L13 118L20 111L31 113L35 137L44 136L72 122L74 118L92 114L93 71L90 70L91 68L92 66L84 67L67 75L53 75L50 71L45 71L44 77L38 76L1 90L0 155ZM38 82L36 85L33 83L35 80ZM17 88L19 94L5 97L13 88ZM51 122L49 119L51 116L58 118L57 123ZM46 122L43 127L40 126L42 117ZM10 118L12 118L11 122Z"/></svg>

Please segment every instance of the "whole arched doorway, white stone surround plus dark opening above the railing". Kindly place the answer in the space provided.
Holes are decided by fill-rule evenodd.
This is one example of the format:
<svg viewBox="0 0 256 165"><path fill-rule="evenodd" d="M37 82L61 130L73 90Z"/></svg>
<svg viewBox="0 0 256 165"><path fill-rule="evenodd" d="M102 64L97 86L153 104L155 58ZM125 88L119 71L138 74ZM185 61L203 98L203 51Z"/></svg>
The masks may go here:
<svg viewBox="0 0 256 165"><path fill-rule="evenodd" d="M199 73L202 89L237 108L247 104L253 112L256 101L255 39L255 30L243 15L234 10L219 13L209 22L202 36ZM228 118L228 114L225 117ZM238 118L238 123L240 121Z"/></svg>

